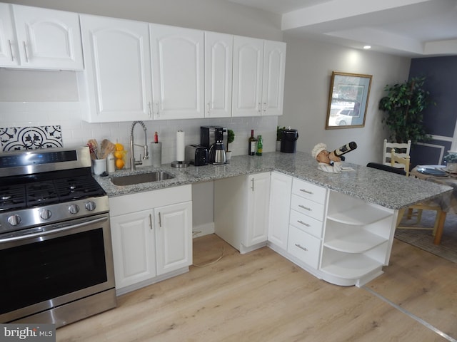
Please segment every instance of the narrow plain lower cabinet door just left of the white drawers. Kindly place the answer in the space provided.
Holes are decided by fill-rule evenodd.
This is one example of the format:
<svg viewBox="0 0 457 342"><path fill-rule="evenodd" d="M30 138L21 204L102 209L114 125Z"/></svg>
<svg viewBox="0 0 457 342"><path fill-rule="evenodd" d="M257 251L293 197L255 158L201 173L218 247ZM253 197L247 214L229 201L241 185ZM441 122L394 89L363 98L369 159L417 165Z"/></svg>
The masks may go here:
<svg viewBox="0 0 457 342"><path fill-rule="evenodd" d="M287 249L292 177L271 172L268 241Z"/></svg>

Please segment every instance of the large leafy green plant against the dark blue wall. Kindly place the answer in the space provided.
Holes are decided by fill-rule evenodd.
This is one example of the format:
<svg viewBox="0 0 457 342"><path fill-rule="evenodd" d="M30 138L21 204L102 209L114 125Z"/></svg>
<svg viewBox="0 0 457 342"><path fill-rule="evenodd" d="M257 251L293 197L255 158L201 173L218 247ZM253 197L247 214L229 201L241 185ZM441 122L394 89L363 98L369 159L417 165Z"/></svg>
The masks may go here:
<svg viewBox="0 0 457 342"><path fill-rule="evenodd" d="M431 139L423 127L422 112L432 103L430 93L423 89L425 81L425 77L415 77L384 88L388 93L379 101L379 109L387 113L382 122L390 131L393 142L411 140L416 143Z"/></svg>

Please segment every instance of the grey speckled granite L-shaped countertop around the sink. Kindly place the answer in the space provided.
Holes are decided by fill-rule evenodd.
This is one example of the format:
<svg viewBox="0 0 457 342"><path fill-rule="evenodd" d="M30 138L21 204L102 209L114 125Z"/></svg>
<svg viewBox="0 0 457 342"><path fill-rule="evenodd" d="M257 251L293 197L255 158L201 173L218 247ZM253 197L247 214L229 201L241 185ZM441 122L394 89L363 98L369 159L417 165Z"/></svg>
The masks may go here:
<svg viewBox="0 0 457 342"><path fill-rule="evenodd" d="M161 167L137 167L133 172L130 170L116 171L108 177L94 177L109 197L273 170L389 209L401 209L441 195L451 196L452 188L446 185L438 185L349 162L343 164L344 167L352 167L353 170L341 173L323 172L317 169L317 162L309 153L266 152L262 156L238 155L232 157L229 164L225 165L199 167L190 165L176 168L171 167L170 164L164 164ZM126 186L117 186L110 181L111 177L157 170L169 172L176 177L160 182Z"/></svg>

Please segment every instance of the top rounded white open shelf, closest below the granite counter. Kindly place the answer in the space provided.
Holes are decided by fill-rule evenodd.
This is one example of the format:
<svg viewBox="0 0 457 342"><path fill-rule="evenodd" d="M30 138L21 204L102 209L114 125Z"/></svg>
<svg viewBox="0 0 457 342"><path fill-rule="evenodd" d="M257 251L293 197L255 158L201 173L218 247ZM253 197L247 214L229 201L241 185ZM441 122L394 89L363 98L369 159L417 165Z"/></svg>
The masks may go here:
<svg viewBox="0 0 457 342"><path fill-rule="evenodd" d="M387 210L364 204L343 212L329 213L327 219L353 226L365 226L392 215L392 212L388 212Z"/></svg>

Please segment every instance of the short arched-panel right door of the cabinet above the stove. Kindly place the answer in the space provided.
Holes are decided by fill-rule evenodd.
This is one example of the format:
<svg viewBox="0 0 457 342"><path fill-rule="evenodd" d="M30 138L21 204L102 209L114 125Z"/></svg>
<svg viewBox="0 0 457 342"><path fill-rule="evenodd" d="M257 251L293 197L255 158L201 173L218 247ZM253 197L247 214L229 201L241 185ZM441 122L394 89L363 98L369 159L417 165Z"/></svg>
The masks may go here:
<svg viewBox="0 0 457 342"><path fill-rule="evenodd" d="M21 66L83 69L79 14L12 6Z"/></svg>

